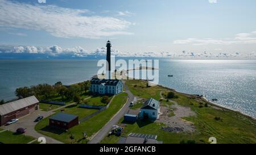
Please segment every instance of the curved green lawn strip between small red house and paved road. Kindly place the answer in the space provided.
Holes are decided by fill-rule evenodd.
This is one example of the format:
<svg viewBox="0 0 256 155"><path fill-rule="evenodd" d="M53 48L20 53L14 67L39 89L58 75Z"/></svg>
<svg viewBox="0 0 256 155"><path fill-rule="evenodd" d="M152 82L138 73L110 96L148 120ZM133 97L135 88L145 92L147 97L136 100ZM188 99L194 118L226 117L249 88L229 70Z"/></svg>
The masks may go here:
<svg viewBox="0 0 256 155"><path fill-rule="evenodd" d="M126 93L116 95L107 110L102 111L100 114L97 114L85 122L82 122L81 124L69 129L68 132L53 133L45 131L44 128L48 125L47 118L36 124L35 129L44 135L53 137L53 139L63 141L64 143L87 143L88 140L82 139L82 133L86 132L86 135L92 136L93 133L99 131L120 110L126 101ZM72 134L75 139L70 138Z"/></svg>

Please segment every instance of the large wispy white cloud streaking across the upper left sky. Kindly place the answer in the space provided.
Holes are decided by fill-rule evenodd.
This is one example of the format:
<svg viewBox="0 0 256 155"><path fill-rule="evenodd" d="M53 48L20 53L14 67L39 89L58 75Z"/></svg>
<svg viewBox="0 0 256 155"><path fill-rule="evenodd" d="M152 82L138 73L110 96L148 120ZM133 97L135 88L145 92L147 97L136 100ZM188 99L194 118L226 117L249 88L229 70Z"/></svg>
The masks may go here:
<svg viewBox="0 0 256 155"><path fill-rule="evenodd" d="M0 26L42 30L56 37L100 38L133 34L123 31L132 25L126 20L88 16L88 12L55 5L30 5L0 0Z"/></svg>

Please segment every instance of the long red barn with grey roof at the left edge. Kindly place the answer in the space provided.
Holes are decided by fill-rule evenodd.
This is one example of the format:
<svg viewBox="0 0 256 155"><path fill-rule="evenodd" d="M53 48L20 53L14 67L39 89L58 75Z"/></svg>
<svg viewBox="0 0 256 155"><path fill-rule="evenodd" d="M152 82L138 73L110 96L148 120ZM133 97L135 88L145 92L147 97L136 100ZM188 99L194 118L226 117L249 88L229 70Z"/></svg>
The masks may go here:
<svg viewBox="0 0 256 155"><path fill-rule="evenodd" d="M39 100L35 96L15 100L0 105L0 125L11 119L18 119L39 109Z"/></svg>

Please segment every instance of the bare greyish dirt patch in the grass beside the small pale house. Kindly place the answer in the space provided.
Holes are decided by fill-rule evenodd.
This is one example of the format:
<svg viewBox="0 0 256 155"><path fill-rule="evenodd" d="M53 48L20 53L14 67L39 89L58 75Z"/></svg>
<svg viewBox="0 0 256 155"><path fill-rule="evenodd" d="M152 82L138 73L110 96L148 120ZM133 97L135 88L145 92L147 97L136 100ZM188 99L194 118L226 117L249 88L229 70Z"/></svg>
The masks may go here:
<svg viewBox="0 0 256 155"><path fill-rule="evenodd" d="M195 116L196 113L189 107L183 107L174 101L170 101L174 104L171 106L161 106L160 118L156 122L164 123L168 127L162 127L164 131L168 132L194 132L195 125L192 122L188 122L182 118Z"/></svg>

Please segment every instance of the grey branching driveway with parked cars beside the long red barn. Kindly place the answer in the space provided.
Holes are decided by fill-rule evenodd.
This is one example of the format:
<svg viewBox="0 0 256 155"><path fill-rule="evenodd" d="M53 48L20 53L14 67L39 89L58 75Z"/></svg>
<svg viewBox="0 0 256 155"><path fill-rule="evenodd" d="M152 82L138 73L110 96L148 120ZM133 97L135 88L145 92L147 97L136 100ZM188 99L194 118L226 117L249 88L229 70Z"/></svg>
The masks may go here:
<svg viewBox="0 0 256 155"><path fill-rule="evenodd" d="M3 125L1 128L9 129L10 131L13 131L13 132L16 132L16 129L18 129L18 128L27 128L26 135L28 135L28 136L35 137L36 139L38 139L39 137L44 137L44 138L46 138L47 144L61 144L62 142L52 139L51 137L42 135L41 133L36 132L34 129L35 125L36 125L36 122L34 122L34 120L39 115L44 116L44 118L46 118L51 114L53 114L53 113L38 110L38 111L33 112L32 114L28 114L26 116L23 116L22 118L19 118L19 121L14 124L7 125L7 126Z"/></svg>

